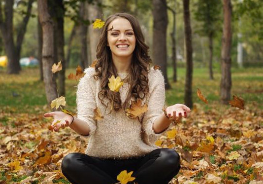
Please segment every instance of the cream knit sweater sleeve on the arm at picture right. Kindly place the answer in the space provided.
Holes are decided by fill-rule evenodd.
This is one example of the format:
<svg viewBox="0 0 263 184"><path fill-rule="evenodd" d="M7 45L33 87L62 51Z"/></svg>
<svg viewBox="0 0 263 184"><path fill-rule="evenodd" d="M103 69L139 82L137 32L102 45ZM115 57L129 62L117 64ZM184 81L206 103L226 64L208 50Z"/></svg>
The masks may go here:
<svg viewBox="0 0 263 184"><path fill-rule="evenodd" d="M164 132L172 127L172 123L161 133L155 133L153 129L154 121L163 113L163 107L165 102L165 88L164 88L164 76L161 71L156 70L152 71L151 74L151 83L152 92L149 96L148 109L144 114L142 127L149 139L152 139L149 136L155 137L155 140L158 139ZM150 86L150 84L149 84Z"/></svg>

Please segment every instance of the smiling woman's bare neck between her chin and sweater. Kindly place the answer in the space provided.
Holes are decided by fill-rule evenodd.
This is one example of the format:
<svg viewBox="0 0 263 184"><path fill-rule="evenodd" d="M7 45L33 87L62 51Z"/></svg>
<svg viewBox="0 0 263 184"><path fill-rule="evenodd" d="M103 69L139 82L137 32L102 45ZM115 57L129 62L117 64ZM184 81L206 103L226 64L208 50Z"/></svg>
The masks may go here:
<svg viewBox="0 0 263 184"><path fill-rule="evenodd" d="M117 57L117 56L112 55L112 61L118 73L128 73L129 67L132 63L132 56Z"/></svg>

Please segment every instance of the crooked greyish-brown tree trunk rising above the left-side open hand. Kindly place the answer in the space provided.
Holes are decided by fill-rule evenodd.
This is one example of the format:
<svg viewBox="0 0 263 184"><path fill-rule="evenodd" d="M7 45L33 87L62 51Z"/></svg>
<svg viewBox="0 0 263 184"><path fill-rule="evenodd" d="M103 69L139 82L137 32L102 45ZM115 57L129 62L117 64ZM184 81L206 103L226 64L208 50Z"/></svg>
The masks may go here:
<svg viewBox="0 0 263 184"><path fill-rule="evenodd" d="M45 91L47 102L50 105L51 101L57 98L57 84L55 77L52 77L51 79L51 68L54 62L54 28L52 18L48 12L48 0L37 0L37 8L43 30L42 62Z"/></svg>

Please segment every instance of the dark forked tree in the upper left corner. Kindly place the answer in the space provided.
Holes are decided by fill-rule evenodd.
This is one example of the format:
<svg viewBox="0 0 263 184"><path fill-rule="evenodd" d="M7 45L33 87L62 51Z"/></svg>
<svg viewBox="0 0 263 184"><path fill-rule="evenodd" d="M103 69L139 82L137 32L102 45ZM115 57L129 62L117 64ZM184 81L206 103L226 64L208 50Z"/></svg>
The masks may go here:
<svg viewBox="0 0 263 184"><path fill-rule="evenodd" d="M16 43L14 41L13 29L13 5L14 0L0 0L0 32L2 34L5 52L8 58L7 73L18 74L21 70L19 59L21 53L21 46L27 30L27 24L31 15L32 3L34 0L29 0L27 3L27 12L23 17L17 29ZM2 7L4 4L4 7ZM4 15L2 13L4 9Z"/></svg>

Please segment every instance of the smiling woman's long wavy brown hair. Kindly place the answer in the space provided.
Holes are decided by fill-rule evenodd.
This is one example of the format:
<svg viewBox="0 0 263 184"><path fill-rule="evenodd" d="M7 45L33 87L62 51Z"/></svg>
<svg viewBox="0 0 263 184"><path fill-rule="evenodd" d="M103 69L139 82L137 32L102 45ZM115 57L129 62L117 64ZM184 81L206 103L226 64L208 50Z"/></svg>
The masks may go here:
<svg viewBox="0 0 263 184"><path fill-rule="evenodd" d="M118 76L117 70L112 62L112 55L109 46L107 46L107 31L109 24L117 18L125 18L127 19L131 25L134 32L134 36L136 39L135 48L132 54L132 62L128 71L128 82L130 84L130 90L127 94L127 98L122 105L120 92L114 93L114 102L113 107L115 111L123 108L124 110L130 105L130 100L132 97L134 100L140 98L141 100L149 93L148 86L148 72L150 70L150 63L152 60L148 55L149 47L144 42L144 37L139 25L139 22L136 20L134 16L128 13L116 13L114 15L110 15L105 21L105 25L101 30L101 35L99 37L99 42L97 46L97 61L95 64L95 74L93 77L101 80L101 90L99 91L99 100L107 109L108 104L105 105L103 103L103 99L106 97L112 102L113 99L113 91L111 91L108 87L108 78L112 75L115 77Z"/></svg>

